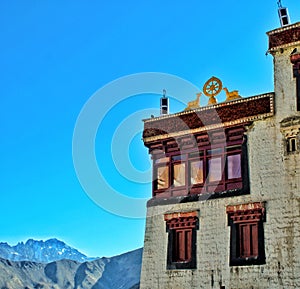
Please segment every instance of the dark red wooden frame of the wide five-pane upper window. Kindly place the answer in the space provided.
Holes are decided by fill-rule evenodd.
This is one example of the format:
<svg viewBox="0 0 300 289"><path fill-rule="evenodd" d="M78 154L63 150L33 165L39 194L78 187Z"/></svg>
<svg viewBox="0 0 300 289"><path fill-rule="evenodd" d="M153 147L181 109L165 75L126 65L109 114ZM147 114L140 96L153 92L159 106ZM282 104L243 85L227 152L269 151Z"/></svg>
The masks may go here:
<svg viewBox="0 0 300 289"><path fill-rule="evenodd" d="M210 154L211 151L218 150L217 154ZM199 153L199 156L195 154ZM228 156L240 155L241 176L238 178L228 178ZM156 164L159 158L169 158L168 162ZM221 179L209 182L209 160L221 158ZM191 163L193 161L203 162L203 182L191 182ZM174 165L184 164L185 184L182 186L174 185ZM168 181L166 188L157 189L157 168L162 165L168 166ZM227 146L207 145L201 148L190 149L183 152L172 152L165 155L157 155L153 160L153 197L171 197L179 195L193 195L201 193L222 192L248 187L248 168L247 168L247 148L240 141L231 142Z"/></svg>

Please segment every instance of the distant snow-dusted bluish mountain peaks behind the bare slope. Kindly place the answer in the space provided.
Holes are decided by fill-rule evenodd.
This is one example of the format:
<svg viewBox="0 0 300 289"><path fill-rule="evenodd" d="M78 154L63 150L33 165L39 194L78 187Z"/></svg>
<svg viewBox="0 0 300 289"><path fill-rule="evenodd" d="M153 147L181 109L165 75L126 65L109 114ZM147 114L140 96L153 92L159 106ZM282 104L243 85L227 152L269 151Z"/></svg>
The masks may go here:
<svg viewBox="0 0 300 289"><path fill-rule="evenodd" d="M32 261L40 263L50 263L62 259L77 262L95 259L88 258L78 250L57 239L49 239L47 241L29 239L26 243L20 242L15 246L0 243L0 257L11 261Z"/></svg>

